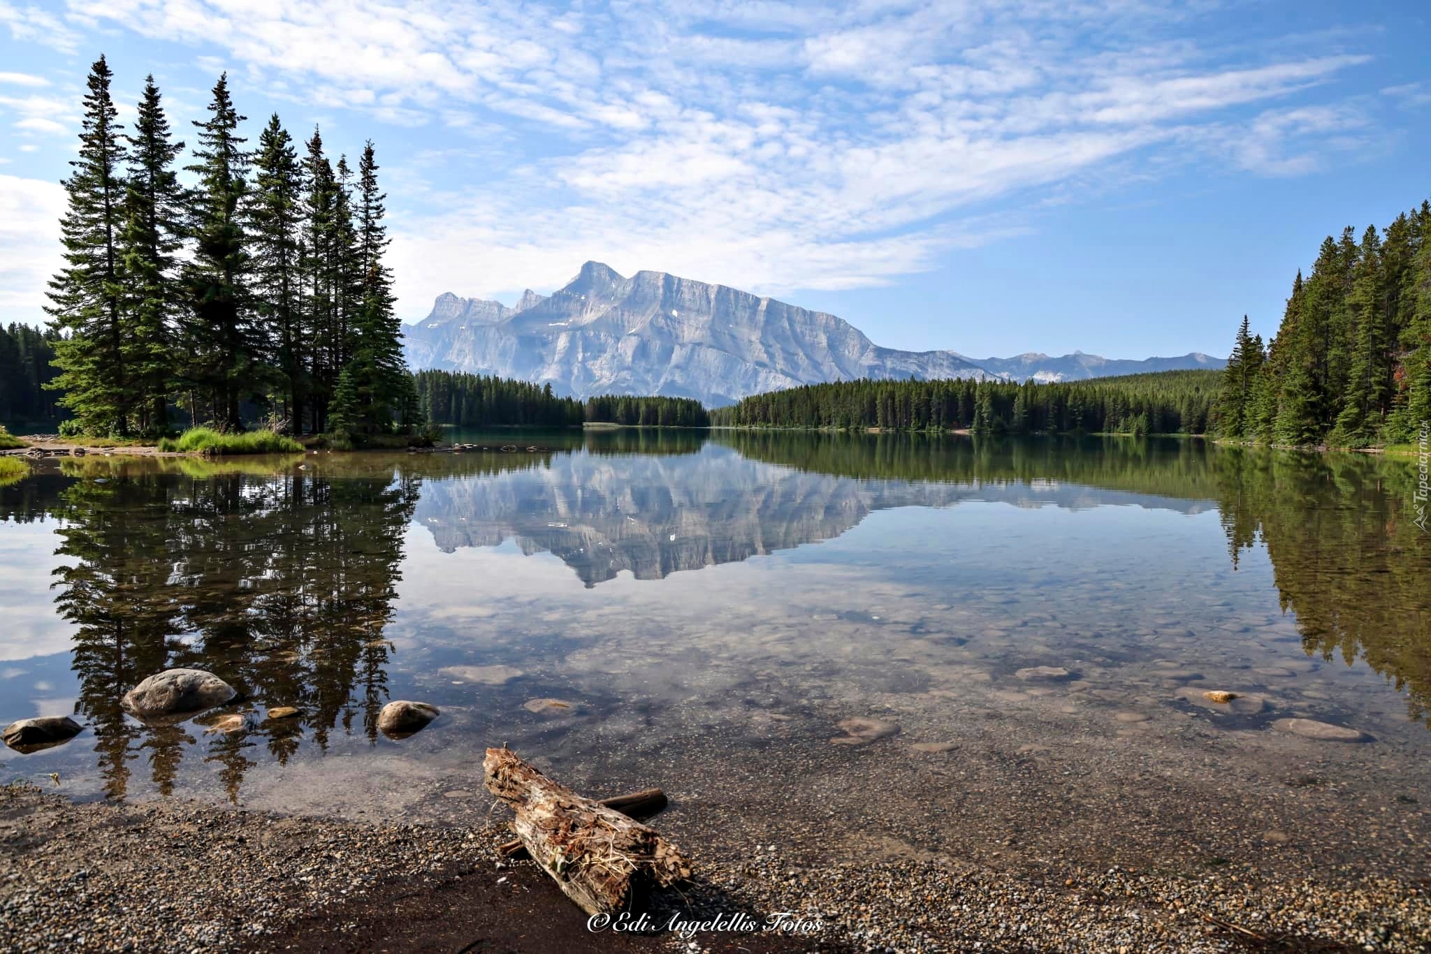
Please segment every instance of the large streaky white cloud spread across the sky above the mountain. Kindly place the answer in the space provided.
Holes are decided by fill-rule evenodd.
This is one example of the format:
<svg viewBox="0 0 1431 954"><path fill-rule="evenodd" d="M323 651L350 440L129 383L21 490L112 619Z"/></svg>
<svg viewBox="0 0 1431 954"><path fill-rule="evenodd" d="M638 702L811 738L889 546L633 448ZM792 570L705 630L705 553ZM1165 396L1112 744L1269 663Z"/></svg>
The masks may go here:
<svg viewBox="0 0 1431 954"><path fill-rule="evenodd" d="M1292 174L1355 134L1322 87L1367 57L1205 47L1188 20L1211 7L69 1L76 23L190 44L270 96L471 143L489 180L454 172L472 185L444 192L426 159L389 169L408 316L448 289L550 287L588 257L763 290L877 285L1027 227L1019 206L1082 177L1148 176L1189 147Z"/></svg>

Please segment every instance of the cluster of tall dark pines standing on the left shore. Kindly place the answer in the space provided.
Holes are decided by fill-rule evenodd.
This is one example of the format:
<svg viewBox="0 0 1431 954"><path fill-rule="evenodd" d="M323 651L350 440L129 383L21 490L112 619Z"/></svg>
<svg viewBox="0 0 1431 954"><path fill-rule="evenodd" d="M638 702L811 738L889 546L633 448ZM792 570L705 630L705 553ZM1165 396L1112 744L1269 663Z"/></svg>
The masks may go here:
<svg viewBox="0 0 1431 954"><path fill-rule="evenodd" d="M289 433L411 432L372 142L355 170L316 129L301 154L273 114L250 149L220 76L185 159L153 77L129 129L112 80L102 56L64 180L64 267L44 333L57 373L27 378L59 393L66 431L239 432L263 418ZM53 416L23 390L0 416Z"/></svg>

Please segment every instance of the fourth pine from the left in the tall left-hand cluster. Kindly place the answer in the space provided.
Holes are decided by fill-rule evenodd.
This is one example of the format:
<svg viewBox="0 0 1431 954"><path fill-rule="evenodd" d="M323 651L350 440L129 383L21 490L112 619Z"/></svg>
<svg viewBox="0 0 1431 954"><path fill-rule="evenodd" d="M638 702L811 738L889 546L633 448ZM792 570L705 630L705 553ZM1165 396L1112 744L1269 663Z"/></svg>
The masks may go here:
<svg viewBox="0 0 1431 954"><path fill-rule="evenodd" d="M279 400L289 428L302 433L306 390L303 322L303 167L293 140L269 117L253 159L252 247L255 312L279 373Z"/></svg>

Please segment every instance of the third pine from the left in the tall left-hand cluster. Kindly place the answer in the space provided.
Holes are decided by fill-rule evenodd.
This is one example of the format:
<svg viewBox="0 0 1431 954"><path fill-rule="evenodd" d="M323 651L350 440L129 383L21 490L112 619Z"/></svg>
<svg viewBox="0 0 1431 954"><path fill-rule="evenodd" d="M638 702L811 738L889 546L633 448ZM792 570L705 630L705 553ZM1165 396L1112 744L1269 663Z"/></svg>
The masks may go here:
<svg viewBox="0 0 1431 954"><path fill-rule="evenodd" d="M199 129L193 196L195 256L185 280L193 318L189 338L197 383L212 395L215 422L223 431L242 431L240 402L256 390L258 342L245 300L249 269L243 202L249 156L236 134L246 117L229 97L228 74L219 77L209 103L209 119Z"/></svg>

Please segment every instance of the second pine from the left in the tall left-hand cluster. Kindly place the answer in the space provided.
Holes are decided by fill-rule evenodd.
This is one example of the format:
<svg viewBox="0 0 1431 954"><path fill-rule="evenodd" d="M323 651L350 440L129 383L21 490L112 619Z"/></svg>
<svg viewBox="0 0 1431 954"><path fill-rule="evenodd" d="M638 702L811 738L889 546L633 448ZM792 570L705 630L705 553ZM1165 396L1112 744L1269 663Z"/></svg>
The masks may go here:
<svg viewBox="0 0 1431 954"><path fill-rule="evenodd" d="M129 140L122 265L127 335L126 365L136 392L139 428L169 429L175 325L179 305L176 252L183 237L183 189L175 162L183 143L172 142L155 77L145 80L135 134Z"/></svg>

